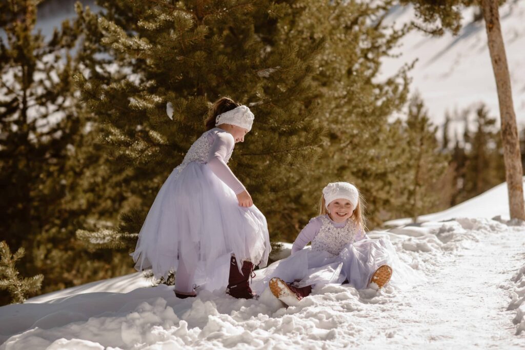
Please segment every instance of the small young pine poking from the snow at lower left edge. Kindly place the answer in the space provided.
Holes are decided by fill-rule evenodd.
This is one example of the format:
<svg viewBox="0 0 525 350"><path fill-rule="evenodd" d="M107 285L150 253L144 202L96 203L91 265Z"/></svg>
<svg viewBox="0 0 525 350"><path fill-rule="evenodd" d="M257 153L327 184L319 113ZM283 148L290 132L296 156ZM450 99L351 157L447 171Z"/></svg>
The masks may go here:
<svg viewBox="0 0 525 350"><path fill-rule="evenodd" d="M23 303L28 294L38 292L43 275L29 278L20 278L15 268L16 261L25 255L24 248L18 248L15 254L11 254L9 246L3 240L0 242L0 289L7 290L12 298L12 303Z"/></svg>

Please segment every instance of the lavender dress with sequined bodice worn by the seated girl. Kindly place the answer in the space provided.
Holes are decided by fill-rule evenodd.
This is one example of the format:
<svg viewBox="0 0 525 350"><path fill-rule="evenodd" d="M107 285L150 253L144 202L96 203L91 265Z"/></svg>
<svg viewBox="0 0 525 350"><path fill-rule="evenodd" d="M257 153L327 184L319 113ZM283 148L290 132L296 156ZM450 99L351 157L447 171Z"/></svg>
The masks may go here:
<svg viewBox="0 0 525 350"><path fill-rule="evenodd" d="M311 247L303 247L311 242ZM295 243L292 254L256 271L253 289L262 293L273 277L295 282L298 287L348 283L356 289L369 287L381 265L393 269L390 283L404 288L424 280L397 256L390 240L370 239L351 219L336 223L328 215L312 218Z"/></svg>

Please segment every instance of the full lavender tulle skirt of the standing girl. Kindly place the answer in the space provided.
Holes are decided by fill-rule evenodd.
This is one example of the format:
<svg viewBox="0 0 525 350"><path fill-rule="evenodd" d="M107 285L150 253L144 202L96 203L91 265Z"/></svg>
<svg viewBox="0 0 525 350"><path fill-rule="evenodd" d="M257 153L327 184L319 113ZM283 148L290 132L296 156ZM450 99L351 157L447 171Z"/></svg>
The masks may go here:
<svg viewBox="0 0 525 350"><path fill-rule="evenodd" d="M227 285L229 260L264 267L270 253L266 218L255 205L241 207L232 189L205 163L177 167L162 185L130 255L135 269L167 278L180 260L196 271L195 283L213 290Z"/></svg>

